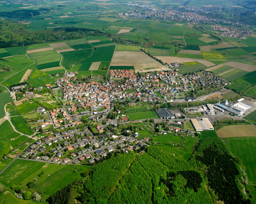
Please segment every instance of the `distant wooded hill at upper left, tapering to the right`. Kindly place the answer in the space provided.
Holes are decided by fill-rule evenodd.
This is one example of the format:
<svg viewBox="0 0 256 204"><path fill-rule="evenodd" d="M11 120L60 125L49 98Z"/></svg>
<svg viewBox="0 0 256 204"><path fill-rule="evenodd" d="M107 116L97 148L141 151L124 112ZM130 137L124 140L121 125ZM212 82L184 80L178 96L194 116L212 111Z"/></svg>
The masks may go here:
<svg viewBox="0 0 256 204"><path fill-rule="evenodd" d="M0 20L0 48L26 46L58 40L72 40L86 36L103 35L99 30L86 28L55 28L30 31L28 25Z"/></svg>

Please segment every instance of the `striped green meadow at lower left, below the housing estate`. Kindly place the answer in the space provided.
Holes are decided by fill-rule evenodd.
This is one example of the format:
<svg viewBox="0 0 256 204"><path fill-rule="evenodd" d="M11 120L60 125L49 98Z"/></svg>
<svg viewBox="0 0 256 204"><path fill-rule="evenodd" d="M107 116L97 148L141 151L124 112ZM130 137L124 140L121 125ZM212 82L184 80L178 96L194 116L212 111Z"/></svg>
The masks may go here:
<svg viewBox="0 0 256 204"><path fill-rule="evenodd" d="M38 177L37 175L43 170L44 174L38 177L38 181L33 188L41 192L45 191L42 195L42 199L45 200L48 196L60 190L61 187L72 183L76 179L81 179L80 173L84 169L90 169L90 166L86 165L48 164L47 167L43 167L44 165L44 162L17 159L12 164L13 168L0 175L0 180L7 187L15 184L27 189L26 184L32 181L33 178ZM74 169L78 171L75 173Z"/></svg>

